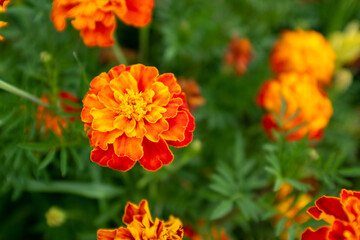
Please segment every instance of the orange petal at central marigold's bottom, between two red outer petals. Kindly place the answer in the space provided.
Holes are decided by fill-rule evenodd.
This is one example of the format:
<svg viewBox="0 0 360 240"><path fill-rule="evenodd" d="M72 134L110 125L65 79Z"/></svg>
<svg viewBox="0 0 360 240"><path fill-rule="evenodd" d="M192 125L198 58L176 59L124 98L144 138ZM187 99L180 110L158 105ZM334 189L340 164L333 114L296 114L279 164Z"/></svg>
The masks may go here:
<svg viewBox="0 0 360 240"><path fill-rule="evenodd" d="M141 138L130 138L123 134L114 142L115 154L118 157L129 157L131 160L137 161L144 155L141 142Z"/></svg>

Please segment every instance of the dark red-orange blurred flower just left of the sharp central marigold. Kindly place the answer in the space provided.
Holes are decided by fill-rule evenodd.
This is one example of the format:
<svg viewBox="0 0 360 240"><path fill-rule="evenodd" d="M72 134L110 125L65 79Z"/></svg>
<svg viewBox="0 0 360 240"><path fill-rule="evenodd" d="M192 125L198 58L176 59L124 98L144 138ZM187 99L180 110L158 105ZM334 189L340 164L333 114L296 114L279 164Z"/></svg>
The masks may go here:
<svg viewBox="0 0 360 240"><path fill-rule="evenodd" d="M41 101L49 103L49 98L46 95L41 96ZM70 106L67 101L72 103L79 103L77 97L69 92L59 92L59 102L62 110L65 113L80 112L80 108ZM70 121L74 121L75 117L70 117ZM62 137L62 128L67 128L68 121L63 117L56 116L51 110L46 109L44 106L39 105L36 113L36 126L38 129L42 128L44 124L44 134L47 134L49 130L52 130L56 135Z"/></svg>

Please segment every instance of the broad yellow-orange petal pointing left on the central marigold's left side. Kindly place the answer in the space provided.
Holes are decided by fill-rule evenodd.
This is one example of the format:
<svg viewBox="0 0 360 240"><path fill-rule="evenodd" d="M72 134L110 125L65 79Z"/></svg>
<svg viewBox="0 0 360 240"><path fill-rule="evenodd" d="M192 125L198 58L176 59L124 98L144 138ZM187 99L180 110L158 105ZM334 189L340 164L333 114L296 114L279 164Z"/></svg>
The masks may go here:
<svg viewBox="0 0 360 240"><path fill-rule="evenodd" d="M93 116L91 127L94 130L108 132L114 130L114 121L117 114L109 109L92 108L90 114Z"/></svg>

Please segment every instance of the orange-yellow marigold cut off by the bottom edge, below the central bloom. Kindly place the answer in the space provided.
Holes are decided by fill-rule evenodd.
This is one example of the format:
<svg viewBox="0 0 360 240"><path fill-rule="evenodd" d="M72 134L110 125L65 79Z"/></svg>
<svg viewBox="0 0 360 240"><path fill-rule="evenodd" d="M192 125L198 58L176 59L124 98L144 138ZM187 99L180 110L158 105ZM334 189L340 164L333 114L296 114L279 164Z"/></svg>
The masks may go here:
<svg viewBox="0 0 360 240"><path fill-rule="evenodd" d="M142 200L138 205L128 202L125 207L123 222L126 228L100 229L97 232L98 240L179 240L184 231L180 219L170 216L165 222L155 218L152 220L148 202Z"/></svg>

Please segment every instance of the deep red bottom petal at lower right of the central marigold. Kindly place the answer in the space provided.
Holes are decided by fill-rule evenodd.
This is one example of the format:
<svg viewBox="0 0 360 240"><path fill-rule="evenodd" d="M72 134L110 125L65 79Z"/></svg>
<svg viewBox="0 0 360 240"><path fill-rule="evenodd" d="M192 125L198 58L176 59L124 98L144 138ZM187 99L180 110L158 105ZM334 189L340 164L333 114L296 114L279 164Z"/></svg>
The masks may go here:
<svg viewBox="0 0 360 240"><path fill-rule="evenodd" d="M159 142L154 143L146 138L143 140L144 156L140 159L140 164L146 170L156 171L162 165L171 163L174 155L169 150L166 142L160 138Z"/></svg>

